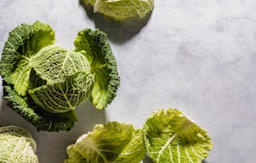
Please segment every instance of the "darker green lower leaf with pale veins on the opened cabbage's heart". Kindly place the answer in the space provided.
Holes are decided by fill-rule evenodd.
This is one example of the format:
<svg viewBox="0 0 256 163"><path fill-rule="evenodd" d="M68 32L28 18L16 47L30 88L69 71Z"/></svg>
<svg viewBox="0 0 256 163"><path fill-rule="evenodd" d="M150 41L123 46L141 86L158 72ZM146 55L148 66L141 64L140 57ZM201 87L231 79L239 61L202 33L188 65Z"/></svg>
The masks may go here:
<svg viewBox="0 0 256 163"><path fill-rule="evenodd" d="M45 111L59 113L74 110L90 96L94 75L77 72L64 81L49 83L28 91L38 106Z"/></svg>

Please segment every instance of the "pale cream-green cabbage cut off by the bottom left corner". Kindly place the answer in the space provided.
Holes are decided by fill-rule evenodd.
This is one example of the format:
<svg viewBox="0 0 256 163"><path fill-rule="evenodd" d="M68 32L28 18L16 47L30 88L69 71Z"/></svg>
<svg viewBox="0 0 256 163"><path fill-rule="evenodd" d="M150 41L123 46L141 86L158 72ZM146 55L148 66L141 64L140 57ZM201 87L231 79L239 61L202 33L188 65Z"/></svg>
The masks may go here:
<svg viewBox="0 0 256 163"><path fill-rule="evenodd" d="M18 126L0 127L0 162L38 162L36 143L25 129Z"/></svg>

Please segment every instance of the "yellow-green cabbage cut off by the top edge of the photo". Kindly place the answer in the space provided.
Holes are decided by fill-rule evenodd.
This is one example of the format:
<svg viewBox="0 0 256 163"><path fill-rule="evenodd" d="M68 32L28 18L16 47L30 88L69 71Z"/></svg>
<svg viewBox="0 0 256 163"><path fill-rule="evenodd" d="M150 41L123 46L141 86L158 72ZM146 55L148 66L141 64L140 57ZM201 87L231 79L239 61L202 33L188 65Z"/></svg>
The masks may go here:
<svg viewBox="0 0 256 163"><path fill-rule="evenodd" d="M154 0L84 0L85 4L94 7L94 12L100 12L115 21L130 17L146 17L154 7Z"/></svg>

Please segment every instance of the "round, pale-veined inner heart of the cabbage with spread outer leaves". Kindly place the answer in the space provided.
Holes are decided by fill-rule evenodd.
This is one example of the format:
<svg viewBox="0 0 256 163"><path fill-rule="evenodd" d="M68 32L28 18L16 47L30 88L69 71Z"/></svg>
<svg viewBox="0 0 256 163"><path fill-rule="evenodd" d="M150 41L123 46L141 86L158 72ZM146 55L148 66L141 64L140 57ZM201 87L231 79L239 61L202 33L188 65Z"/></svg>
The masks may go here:
<svg viewBox="0 0 256 163"><path fill-rule="evenodd" d="M31 58L29 95L44 110L74 110L89 96L94 84L90 64L79 52L48 46ZM44 83L45 84L42 84Z"/></svg>

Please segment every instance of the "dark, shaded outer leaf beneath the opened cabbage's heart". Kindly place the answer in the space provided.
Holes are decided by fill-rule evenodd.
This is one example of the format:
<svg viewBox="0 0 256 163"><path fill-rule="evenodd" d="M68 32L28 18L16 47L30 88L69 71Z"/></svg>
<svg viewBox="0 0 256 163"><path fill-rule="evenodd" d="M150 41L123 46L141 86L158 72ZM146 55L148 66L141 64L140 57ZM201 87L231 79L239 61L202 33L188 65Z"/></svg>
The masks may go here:
<svg viewBox="0 0 256 163"><path fill-rule="evenodd" d="M77 121L74 111L62 114L42 111L32 103L31 99L18 96L11 86L3 86L3 99L8 101L8 106L32 123L38 131L69 131L74 126L74 122ZM34 108L28 106L28 103Z"/></svg>

